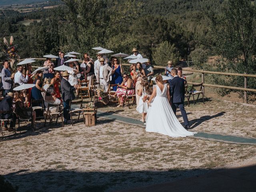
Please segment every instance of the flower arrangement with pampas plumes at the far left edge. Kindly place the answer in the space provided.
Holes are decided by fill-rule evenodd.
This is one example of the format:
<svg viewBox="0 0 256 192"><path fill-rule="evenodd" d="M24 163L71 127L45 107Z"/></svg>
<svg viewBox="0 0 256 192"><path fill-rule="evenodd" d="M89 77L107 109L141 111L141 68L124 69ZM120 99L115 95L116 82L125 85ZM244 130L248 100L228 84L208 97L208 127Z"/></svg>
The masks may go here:
<svg viewBox="0 0 256 192"><path fill-rule="evenodd" d="M5 37L4 42L0 42L0 45L3 47L2 51L4 56L9 60L11 68L14 68L14 62L20 58L17 50L18 45L13 45L13 43L13 36L10 37L10 42L8 42Z"/></svg>

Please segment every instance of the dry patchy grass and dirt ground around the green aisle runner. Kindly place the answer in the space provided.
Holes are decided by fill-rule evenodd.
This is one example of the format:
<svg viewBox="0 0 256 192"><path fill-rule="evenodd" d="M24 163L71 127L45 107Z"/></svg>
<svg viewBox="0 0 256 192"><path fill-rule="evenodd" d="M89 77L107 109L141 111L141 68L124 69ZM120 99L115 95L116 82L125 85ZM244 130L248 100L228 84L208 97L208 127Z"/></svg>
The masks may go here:
<svg viewBox="0 0 256 192"><path fill-rule="evenodd" d="M100 108L140 118L135 106ZM186 106L193 130L256 136L255 106L208 99ZM178 119L182 121L180 112ZM170 138L98 119L0 138L0 172L19 192L116 191L256 162L256 146Z"/></svg>

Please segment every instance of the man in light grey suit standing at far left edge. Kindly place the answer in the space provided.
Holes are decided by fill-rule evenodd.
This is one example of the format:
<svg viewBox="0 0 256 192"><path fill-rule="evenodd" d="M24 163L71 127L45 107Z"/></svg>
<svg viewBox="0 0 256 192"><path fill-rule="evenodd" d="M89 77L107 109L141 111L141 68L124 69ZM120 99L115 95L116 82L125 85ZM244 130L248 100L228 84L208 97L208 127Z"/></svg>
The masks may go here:
<svg viewBox="0 0 256 192"><path fill-rule="evenodd" d="M10 89L12 88L12 79L14 79L14 77L11 77L11 72L9 70L9 63L8 61L4 62L4 68L2 69L2 88L4 89L4 96L6 96L6 94L8 92L10 92Z"/></svg>

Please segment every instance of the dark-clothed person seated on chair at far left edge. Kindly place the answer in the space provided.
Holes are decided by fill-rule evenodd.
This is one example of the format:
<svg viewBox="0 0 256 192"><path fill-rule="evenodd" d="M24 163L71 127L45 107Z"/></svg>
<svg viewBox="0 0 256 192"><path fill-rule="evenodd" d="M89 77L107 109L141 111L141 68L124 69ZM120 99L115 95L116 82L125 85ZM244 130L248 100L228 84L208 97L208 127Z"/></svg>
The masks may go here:
<svg viewBox="0 0 256 192"><path fill-rule="evenodd" d="M12 102L13 102L14 94L12 92L8 92L6 97L0 102L0 110L1 111L9 111L12 110ZM4 121L4 128L8 131L13 131L13 127L15 127L16 116L11 113L4 113L1 114L1 119L12 119L13 121L10 122L10 129L7 128L7 123Z"/></svg>

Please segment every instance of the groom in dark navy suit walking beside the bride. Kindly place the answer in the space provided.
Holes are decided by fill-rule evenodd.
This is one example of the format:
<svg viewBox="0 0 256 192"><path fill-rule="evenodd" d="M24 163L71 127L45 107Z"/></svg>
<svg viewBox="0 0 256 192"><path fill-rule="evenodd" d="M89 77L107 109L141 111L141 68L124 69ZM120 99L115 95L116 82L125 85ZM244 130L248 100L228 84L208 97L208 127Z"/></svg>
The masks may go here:
<svg viewBox="0 0 256 192"><path fill-rule="evenodd" d="M189 122L186 110L184 109L184 99L185 99L185 83L184 79L177 75L178 71L172 68L171 74L173 79L170 81L170 96L172 102L172 110L176 115L176 109L179 108L182 118L184 120L185 128L189 129Z"/></svg>

